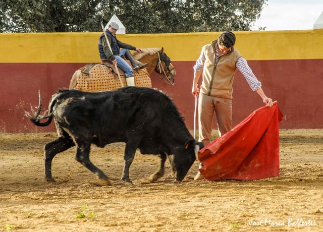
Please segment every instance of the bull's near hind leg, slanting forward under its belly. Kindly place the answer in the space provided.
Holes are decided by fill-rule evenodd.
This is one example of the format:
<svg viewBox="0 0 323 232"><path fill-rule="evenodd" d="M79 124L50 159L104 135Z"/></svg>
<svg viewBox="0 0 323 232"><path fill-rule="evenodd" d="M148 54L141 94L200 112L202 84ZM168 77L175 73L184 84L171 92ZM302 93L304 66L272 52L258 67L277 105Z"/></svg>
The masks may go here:
<svg viewBox="0 0 323 232"><path fill-rule="evenodd" d="M76 149L76 156L75 159L82 163L87 169L92 171L97 177L99 178L98 181L93 182L93 184L98 186L106 186L111 185L111 182L107 176L98 168L96 167L89 158L91 143L79 143L77 142L77 149Z"/></svg>

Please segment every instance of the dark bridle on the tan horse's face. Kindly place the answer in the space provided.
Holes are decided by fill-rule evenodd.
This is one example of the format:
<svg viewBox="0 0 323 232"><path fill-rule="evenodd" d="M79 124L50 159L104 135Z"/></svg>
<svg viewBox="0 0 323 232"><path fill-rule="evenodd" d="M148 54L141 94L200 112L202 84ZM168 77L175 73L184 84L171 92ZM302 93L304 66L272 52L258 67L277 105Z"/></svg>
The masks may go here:
<svg viewBox="0 0 323 232"><path fill-rule="evenodd" d="M161 61L164 61L165 65L163 67L163 65L161 65ZM172 69L170 69L170 66L172 66ZM159 69L159 71L158 71ZM166 70L166 71L165 71ZM157 64L155 66L155 71L161 75L165 75L166 79L162 76L161 78L164 79L166 81L167 84L172 84L174 85L174 81L175 81L175 74L172 74L172 71L175 71L175 67L172 65L171 59L170 57L168 57L164 52L163 54L161 54L160 51L158 51L158 61Z"/></svg>

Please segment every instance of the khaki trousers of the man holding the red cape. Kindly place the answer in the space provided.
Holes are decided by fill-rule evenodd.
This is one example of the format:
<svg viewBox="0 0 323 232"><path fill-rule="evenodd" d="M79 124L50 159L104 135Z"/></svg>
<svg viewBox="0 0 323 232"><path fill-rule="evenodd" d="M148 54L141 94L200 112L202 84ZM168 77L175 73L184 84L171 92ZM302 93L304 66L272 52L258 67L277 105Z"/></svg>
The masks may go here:
<svg viewBox="0 0 323 232"><path fill-rule="evenodd" d="M232 129L232 100L211 97L200 92L198 99L198 141L210 143L214 112L217 116L219 136Z"/></svg>

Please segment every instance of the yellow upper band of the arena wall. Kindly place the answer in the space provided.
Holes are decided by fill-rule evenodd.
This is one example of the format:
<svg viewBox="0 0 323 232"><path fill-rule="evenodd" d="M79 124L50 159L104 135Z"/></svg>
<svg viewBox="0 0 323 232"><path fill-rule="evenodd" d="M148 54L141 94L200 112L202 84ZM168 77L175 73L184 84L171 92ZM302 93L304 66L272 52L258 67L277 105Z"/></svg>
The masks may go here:
<svg viewBox="0 0 323 232"><path fill-rule="evenodd" d="M0 34L0 63L99 63L101 33ZM235 32L247 60L323 59L323 29ZM137 47L164 47L172 61L195 61L219 32L117 35Z"/></svg>

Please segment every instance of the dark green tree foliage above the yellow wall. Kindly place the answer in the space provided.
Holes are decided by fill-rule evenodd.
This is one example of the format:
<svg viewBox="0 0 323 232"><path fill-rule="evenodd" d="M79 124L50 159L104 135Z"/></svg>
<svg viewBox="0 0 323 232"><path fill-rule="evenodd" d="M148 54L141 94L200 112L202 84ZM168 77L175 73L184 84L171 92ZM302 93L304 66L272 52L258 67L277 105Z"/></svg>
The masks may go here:
<svg viewBox="0 0 323 232"><path fill-rule="evenodd" d="M116 14L127 33L248 31L267 0L2 0L0 32L98 32ZM263 29L263 28L262 28Z"/></svg>

